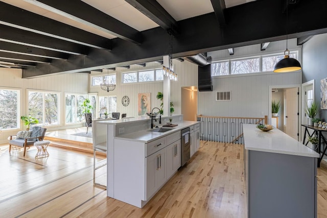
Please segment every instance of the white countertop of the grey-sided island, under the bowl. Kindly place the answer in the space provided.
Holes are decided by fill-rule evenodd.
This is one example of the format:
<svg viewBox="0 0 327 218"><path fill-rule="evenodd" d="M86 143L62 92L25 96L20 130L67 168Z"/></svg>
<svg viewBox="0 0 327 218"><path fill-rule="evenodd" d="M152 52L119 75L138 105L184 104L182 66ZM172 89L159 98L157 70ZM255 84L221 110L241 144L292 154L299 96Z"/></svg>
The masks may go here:
<svg viewBox="0 0 327 218"><path fill-rule="evenodd" d="M246 150L319 157L317 152L278 129L263 132L255 124L243 124L243 133Z"/></svg>

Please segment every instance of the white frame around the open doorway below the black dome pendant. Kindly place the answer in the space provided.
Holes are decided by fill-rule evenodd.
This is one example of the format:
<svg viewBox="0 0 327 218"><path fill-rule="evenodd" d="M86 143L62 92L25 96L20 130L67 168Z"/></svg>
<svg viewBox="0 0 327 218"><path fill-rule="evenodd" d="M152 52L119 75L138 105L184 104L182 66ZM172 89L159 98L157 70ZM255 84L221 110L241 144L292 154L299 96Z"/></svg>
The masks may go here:
<svg viewBox="0 0 327 218"><path fill-rule="evenodd" d="M272 101L272 90L273 89L287 89L287 88L298 88L299 91L299 97L298 97L298 112L299 112L299 116L298 116L298 120L297 120L297 126L298 126L298 140L301 141L302 138L302 131L301 130L301 124L302 124L302 99L300 98L300 96L302 96L301 94L301 84L293 84L293 85L271 85L268 86L268 123L271 124L271 101ZM283 117L284 118L284 117Z"/></svg>

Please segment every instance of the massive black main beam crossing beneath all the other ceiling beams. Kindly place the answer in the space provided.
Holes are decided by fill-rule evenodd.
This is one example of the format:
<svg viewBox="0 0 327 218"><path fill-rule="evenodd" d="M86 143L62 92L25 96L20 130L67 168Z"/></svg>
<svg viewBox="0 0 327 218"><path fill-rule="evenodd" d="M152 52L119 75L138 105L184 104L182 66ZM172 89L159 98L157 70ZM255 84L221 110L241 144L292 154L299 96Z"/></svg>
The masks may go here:
<svg viewBox="0 0 327 218"><path fill-rule="evenodd" d="M327 33L326 11L327 1L300 1L289 12L289 38ZM217 26L215 13L178 21L181 32L173 37L173 58L286 39L286 27L281 26L285 14L280 1L254 1L226 8L225 17L228 25L223 29ZM165 30L158 27L142 33L147 40L141 46L115 38L112 52L97 50L83 59L75 56L67 61L53 60L50 65L38 64L35 69L22 70L22 77L157 61L169 54L170 37Z"/></svg>

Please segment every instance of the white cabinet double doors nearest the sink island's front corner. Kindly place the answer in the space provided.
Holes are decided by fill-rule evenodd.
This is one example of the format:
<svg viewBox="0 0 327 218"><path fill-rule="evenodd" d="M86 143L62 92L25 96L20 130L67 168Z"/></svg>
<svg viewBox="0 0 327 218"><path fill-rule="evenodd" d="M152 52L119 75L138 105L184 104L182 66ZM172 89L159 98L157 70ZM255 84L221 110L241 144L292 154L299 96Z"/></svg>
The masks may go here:
<svg viewBox="0 0 327 218"><path fill-rule="evenodd" d="M166 148L146 158L146 200L167 181Z"/></svg>

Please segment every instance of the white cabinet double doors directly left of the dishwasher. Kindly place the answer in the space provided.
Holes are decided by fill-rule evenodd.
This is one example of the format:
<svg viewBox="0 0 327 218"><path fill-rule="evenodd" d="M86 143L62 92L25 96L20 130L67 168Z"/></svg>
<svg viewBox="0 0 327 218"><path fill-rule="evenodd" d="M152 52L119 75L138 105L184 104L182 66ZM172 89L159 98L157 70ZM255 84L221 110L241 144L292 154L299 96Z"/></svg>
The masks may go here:
<svg viewBox="0 0 327 218"><path fill-rule="evenodd" d="M167 178L169 179L180 167L180 139L167 147Z"/></svg>

